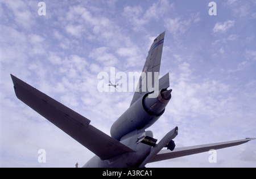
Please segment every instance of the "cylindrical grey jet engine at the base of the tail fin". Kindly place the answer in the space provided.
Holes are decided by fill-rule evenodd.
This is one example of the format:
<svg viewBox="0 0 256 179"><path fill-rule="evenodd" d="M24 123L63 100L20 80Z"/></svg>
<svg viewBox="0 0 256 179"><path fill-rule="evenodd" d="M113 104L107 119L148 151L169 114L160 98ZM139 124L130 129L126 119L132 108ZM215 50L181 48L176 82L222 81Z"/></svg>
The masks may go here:
<svg viewBox="0 0 256 179"><path fill-rule="evenodd" d="M120 140L131 131L150 127L164 113L171 99L171 92L172 90L164 89L159 91L158 97L151 97L149 93L142 96L113 123L111 136Z"/></svg>

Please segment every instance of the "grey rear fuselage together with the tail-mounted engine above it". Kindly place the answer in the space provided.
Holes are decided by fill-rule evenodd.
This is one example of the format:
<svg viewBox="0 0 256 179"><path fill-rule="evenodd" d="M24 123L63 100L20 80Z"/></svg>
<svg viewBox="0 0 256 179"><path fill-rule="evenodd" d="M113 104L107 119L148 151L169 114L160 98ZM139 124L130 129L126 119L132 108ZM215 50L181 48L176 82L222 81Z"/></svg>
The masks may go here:
<svg viewBox="0 0 256 179"><path fill-rule="evenodd" d="M135 152L127 152L108 160L101 160L100 157L94 156L84 167L138 167L150 154L152 146L136 141L142 135L153 137L152 131L145 131L145 129L162 116L170 99L171 90L161 90L155 98L150 98L146 94L113 123L110 130L112 137Z"/></svg>

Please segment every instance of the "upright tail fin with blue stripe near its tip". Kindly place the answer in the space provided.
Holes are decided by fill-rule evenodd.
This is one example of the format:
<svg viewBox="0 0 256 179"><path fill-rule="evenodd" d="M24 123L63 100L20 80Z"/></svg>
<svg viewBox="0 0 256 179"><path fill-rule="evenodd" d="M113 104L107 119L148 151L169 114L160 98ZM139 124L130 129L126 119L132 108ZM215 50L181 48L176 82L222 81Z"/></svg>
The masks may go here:
<svg viewBox="0 0 256 179"><path fill-rule="evenodd" d="M150 47L150 50L148 51L148 56L146 58L146 62L142 69L142 74L144 73L146 77L142 78L142 75L141 75L141 77L139 78L139 82L137 84L137 88L134 93L133 100L131 100L131 105L135 103L135 101L137 101L141 96L145 95L148 92L152 92L147 88L147 82L149 79L148 72L152 74L152 87L154 87L154 73L157 72L159 75L159 71L160 71L164 35L165 35L165 32L161 33L158 37L156 37L156 39L154 40L153 44Z"/></svg>

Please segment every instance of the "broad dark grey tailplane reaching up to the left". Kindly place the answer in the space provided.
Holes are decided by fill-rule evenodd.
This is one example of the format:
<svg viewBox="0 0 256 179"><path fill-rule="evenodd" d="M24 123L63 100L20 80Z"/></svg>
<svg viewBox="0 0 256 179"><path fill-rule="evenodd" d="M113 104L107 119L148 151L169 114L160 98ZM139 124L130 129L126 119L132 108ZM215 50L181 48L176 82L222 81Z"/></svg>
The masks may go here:
<svg viewBox="0 0 256 179"><path fill-rule="evenodd" d="M36 88L11 75L19 100L88 148L102 160L125 152L135 152L102 131L90 125L90 120L52 99Z"/></svg>

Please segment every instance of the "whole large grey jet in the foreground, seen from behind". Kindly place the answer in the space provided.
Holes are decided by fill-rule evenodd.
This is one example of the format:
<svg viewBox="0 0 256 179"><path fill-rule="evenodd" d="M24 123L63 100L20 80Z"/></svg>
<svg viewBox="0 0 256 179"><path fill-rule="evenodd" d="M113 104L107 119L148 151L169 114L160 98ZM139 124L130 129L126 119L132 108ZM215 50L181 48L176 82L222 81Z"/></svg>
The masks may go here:
<svg viewBox="0 0 256 179"><path fill-rule="evenodd" d="M156 37L148 51L142 70L146 77L150 73L154 74L160 71L164 34L163 32ZM95 154L83 167L143 168L148 163L207 152L210 149L217 150L237 146L256 139L246 138L175 148L173 139L178 134L176 126L156 143L158 139L153 138L152 131L146 129L162 116L171 100L172 90L168 90L170 87L169 73L159 79L159 95L157 97L150 97L152 91L147 87L147 80L143 80L143 76L140 76L137 85L139 91L134 92L130 107L113 123L110 129L111 137L90 125L88 118L81 116L14 75L11 75L11 78L19 100ZM151 84L155 86L154 80ZM117 88L119 84L115 85L110 82L109 86ZM144 87L146 91L143 91ZM163 150L164 147L167 149Z"/></svg>

